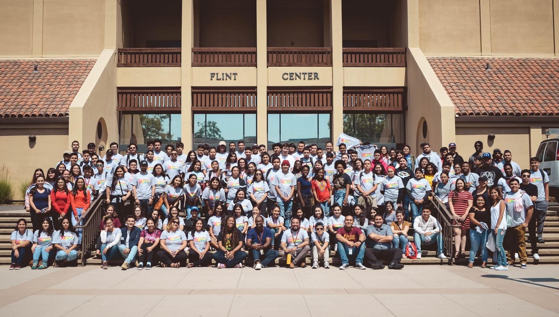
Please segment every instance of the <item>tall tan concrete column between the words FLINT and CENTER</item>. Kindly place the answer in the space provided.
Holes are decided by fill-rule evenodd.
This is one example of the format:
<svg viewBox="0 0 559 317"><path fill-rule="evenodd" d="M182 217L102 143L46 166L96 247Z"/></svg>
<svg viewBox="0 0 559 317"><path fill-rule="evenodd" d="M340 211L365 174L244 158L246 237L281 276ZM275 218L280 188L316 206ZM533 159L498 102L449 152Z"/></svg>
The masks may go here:
<svg viewBox="0 0 559 317"><path fill-rule="evenodd" d="M266 0L256 1L256 74L257 108L256 139L258 144L268 144L268 65L267 65L267 11Z"/></svg>

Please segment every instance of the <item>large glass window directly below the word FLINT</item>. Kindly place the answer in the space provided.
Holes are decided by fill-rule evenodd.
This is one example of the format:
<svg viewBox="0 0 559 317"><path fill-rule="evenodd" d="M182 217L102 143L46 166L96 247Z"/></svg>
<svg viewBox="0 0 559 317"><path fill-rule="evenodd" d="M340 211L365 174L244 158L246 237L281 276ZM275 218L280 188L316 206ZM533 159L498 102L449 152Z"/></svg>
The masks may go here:
<svg viewBox="0 0 559 317"><path fill-rule="evenodd" d="M217 146L220 141L256 143L256 113L195 113L194 144Z"/></svg>

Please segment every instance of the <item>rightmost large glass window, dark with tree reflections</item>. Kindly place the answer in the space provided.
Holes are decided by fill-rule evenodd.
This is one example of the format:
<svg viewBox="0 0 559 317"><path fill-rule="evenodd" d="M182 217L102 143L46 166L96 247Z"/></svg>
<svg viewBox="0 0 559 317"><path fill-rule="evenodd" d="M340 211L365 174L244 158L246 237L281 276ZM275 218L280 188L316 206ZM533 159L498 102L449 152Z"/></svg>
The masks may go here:
<svg viewBox="0 0 559 317"><path fill-rule="evenodd" d="M344 133L362 142L401 148L404 115L400 113L344 113Z"/></svg>

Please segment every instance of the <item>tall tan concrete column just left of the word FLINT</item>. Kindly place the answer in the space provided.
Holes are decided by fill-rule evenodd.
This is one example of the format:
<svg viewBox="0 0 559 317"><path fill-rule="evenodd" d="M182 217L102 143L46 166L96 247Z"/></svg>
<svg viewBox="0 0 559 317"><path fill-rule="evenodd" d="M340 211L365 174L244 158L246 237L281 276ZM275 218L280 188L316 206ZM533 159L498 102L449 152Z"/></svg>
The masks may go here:
<svg viewBox="0 0 559 317"><path fill-rule="evenodd" d="M182 0L181 28L181 141L192 146L192 45L193 45L193 0Z"/></svg>

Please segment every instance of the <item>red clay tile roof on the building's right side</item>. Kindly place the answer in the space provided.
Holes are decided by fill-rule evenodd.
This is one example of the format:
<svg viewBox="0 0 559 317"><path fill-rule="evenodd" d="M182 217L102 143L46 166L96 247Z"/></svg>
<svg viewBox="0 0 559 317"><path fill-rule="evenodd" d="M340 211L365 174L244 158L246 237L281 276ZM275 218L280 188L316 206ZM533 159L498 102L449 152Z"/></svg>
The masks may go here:
<svg viewBox="0 0 559 317"><path fill-rule="evenodd" d="M428 58L460 116L559 115L559 59ZM489 63L490 70L486 70Z"/></svg>

